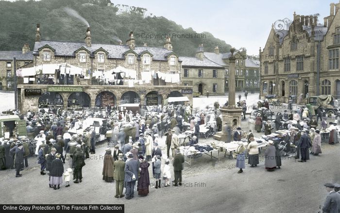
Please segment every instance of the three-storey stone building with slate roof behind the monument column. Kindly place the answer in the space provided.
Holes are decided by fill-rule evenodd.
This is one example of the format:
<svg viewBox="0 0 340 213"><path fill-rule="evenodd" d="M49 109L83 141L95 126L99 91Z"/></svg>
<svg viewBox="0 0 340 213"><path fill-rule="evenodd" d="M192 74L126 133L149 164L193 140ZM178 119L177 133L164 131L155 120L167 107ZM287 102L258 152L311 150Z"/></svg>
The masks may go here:
<svg viewBox="0 0 340 213"><path fill-rule="evenodd" d="M224 91L228 91L228 76L229 76L229 57L231 53L220 53L219 47L215 47L214 53L204 52L201 45L197 54L202 53L203 57L224 67L225 81ZM236 58L235 65L235 85L236 91L259 91L258 76L259 76L259 61L247 55L247 50L241 48L240 51L234 53Z"/></svg>

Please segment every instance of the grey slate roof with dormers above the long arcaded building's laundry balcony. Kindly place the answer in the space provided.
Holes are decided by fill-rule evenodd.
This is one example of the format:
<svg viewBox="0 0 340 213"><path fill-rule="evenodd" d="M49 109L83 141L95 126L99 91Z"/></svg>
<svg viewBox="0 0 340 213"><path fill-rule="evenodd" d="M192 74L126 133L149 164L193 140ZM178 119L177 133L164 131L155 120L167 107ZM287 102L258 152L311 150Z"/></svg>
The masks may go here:
<svg viewBox="0 0 340 213"><path fill-rule="evenodd" d="M108 58L116 58L116 59L125 59L124 53L130 50L127 45L111 45L111 44L91 44L91 47L86 47L85 43L77 43L77 42L64 42L64 41L46 41L42 40L40 42L34 43L33 54L39 54L39 48L49 45L51 48L55 50L54 55L56 56L74 56L75 51L81 47L84 47L86 50L90 51L92 54L99 48L103 48L108 52ZM149 51L153 54L153 60L161 60L167 61L167 55L172 53L173 51L169 51L166 48L159 47L135 47L135 52L139 55L144 51Z"/></svg>

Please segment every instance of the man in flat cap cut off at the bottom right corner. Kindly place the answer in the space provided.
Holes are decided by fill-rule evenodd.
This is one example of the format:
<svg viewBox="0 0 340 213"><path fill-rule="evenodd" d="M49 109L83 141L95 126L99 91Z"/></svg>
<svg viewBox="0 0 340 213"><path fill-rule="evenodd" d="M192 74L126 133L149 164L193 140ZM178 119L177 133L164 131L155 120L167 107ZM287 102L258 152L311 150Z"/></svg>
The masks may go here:
<svg viewBox="0 0 340 213"><path fill-rule="evenodd" d="M329 194L326 197L326 200L323 203L323 213L339 213L340 212L340 194L334 191L333 183L325 183L327 192Z"/></svg>

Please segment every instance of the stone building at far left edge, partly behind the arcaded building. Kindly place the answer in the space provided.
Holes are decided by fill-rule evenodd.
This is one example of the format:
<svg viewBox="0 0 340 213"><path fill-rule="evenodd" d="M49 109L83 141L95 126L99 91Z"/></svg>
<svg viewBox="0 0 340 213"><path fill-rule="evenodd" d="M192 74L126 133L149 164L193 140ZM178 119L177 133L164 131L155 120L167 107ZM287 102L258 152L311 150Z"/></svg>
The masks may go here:
<svg viewBox="0 0 340 213"><path fill-rule="evenodd" d="M16 68L20 68L33 63L32 53L28 44L23 45L22 51L0 51L0 90L14 90L14 57Z"/></svg>

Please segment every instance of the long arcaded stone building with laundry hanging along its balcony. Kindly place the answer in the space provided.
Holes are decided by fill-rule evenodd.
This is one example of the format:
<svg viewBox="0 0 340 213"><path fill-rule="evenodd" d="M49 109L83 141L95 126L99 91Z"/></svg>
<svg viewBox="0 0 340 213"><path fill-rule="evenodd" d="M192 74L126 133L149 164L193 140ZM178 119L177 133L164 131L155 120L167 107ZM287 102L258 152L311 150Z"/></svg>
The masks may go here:
<svg viewBox="0 0 340 213"><path fill-rule="evenodd" d="M41 39L38 24L33 56L35 75L27 76L32 73L25 75L23 70L18 79L22 111L49 104L70 108L135 103L144 107L182 96L192 104L192 86L181 85L181 61L172 51L170 38L163 48L136 46L133 32L126 45L94 44L87 28L85 42L48 41ZM112 72L115 69L122 71ZM107 81L108 74L114 79Z"/></svg>

